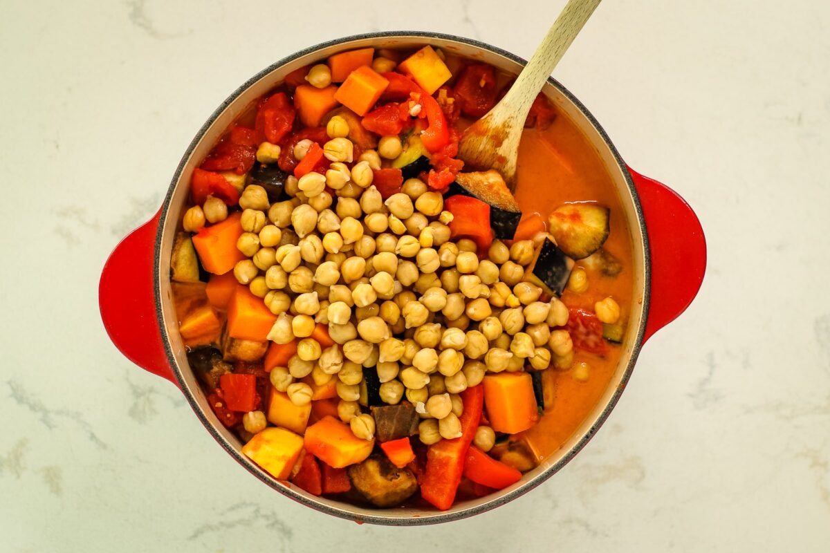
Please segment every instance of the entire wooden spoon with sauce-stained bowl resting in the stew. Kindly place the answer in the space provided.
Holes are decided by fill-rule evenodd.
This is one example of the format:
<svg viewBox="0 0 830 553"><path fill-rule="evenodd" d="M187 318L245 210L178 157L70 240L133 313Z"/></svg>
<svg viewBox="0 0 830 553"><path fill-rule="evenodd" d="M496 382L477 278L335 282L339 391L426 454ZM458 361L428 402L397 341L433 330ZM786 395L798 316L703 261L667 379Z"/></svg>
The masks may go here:
<svg viewBox="0 0 830 553"><path fill-rule="evenodd" d="M513 86L461 136L458 158L476 169L496 169L515 189L519 142L530 105L601 0L569 0Z"/></svg>

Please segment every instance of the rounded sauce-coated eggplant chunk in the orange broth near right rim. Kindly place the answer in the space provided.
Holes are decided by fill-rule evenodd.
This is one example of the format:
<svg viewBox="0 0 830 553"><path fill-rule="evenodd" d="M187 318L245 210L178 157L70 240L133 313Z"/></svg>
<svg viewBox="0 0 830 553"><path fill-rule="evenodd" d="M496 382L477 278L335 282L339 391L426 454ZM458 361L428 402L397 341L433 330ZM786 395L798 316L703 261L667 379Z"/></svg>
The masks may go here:
<svg viewBox="0 0 830 553"><path fill-rule="evenodd" d="M557 207L548 217L550 234L570 258L582 260L608 239L608 207L571 203Z"/></svg>

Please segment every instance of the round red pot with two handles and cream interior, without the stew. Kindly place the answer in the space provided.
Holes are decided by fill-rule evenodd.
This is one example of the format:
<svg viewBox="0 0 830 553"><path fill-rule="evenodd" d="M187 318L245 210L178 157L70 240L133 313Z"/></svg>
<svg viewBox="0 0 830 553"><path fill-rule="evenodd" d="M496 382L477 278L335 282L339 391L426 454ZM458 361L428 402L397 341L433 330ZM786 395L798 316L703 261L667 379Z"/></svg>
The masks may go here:
<svg viewBox="0 0 830 553"><path fill-rule="evenodd" d="M291 70L323 60L338 51L366 46L410 47L424 43L484 61L510 73L518 73L525 64L509 52L478 41L422 32L350 36L313 46L278 61L237 89L199 130L173 174L164 205L152 220L134 230L115 248L101 274L99 290L101 318L115 346L130 361L178 386L207 431L256 478L322 512L387 525L432 524L469 517L519 497L562 468L583 448L616 405L642 344L680 315L695 298L706 269L706 242L691 207L670 188L627 167L588 110L562 85L550 79L544 93L593 143L612 176L631 229L634 258L635 289L630 324L623 341L623 357L603 399L579 430L564 447L525 474L520 482L486 497L457 502L446 512L416 508L380 510L315 497L291 483L272 478L242 455L242 443L217 420L188 366L171 300L169 260L193 168L237 115L251 101L280 83ZM130 293L123 293L125 289Z"/></svg>

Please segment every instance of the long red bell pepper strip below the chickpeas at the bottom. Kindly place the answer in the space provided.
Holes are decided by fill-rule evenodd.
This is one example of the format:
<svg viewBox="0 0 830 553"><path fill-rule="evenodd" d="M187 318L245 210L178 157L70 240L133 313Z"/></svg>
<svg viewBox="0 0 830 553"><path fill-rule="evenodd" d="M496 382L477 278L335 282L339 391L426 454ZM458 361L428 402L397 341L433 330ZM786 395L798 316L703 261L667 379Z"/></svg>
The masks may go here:
<svg viewBox="0 0 830 553"><path fill-rule="evenodd" d="M484 409L484 386L461 392L464 411L461 413L461 438L442 439L427 450L427 469L421 484L421 497L442 511L455 501L467 449L476 435L481 411Z"/></svg>

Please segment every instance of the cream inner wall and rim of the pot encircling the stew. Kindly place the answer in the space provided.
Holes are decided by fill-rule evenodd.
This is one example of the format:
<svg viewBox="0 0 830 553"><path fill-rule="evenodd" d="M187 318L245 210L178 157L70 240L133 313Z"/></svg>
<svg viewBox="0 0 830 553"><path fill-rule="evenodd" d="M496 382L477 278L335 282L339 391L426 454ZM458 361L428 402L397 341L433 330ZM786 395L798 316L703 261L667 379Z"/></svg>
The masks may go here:
<svg viewBox="0 0 830 553"><path fill-rule="evenodd" d="M198 144L193 148L187 163L184 165L181 174L178 177L178 182L175 185L173 195L170 198L167 216L164 219L163 234L161 238L161 245L159 250L159 289L161 291L162 299L162 315L164 318L163 333L167 337L173 357L178 364L178 374L182 379L183 390L195 400L191 402L198 414L212 424L212 434L220 441L225 442L225 447L231 454L234 454L238 460L245 464L246 468L254 473L258 478L266 483L269 483L273 488L285 493L297 501L315 507L324 512L329 512L339 517L351 518L354 520L377 522L382 524L427 524L433 522L447 521L456 518L461 518L482 512L493 507L497 507L502 503L508 502L511 499L518 497L521 493L534 488L536 485L548 478L550 474L556 472L564 463L567 463L569 458L581 449L587 442L588 438L593 435L596 426L604 420L607 415L607 410L610 409L609 404L618 395L627 380L627 376L631 370L632 350L637 345L637 335L642 328L642 308L643 299L646 294L645 289L645 255L644 255L644 240L642 224L637 216L637 209L633 200L632 194L628 189L627 178L621 169L618 159L615 158L613 150L608 147L605 139L603 139L600 131L591 123L590 119L583 114L577 104L569 99L563 91L559 90L554 85L545 85L544 93L551 99L556 107L566 114L569 119L573 120L583 133L588 137L590 143L596 148L600 158L602 158L608 173L613 178L618 194L621 197L623 210L627 217L628 227L632 233L632 248L633 248L633 263L634 263L634 293L632 294L631 307L631 324L628 325L627 335L623 342L624 352L617 371L610 381L608 390L605 391L602 400L593 409L588 418L579 427L577 432L566 442L559 451L551 454L538 468L525 474L525 477L520 482L515 483L510 488L505 488L500 492L496 492L487 497L481 497L475 500L457 502L452 509L447 512L424 511L413 508L399 508L399 509L370 509L365 507L357 507L349 503L338 502L326 497L312 496L300 488L296 488L290 483L284 483L271 476L249 459L245 458L241 453L242 443L240 440L226 429L217 419L216 415L207 405L207 400L203 394L198 380L193 375L193 372L188 366L185 348L178 333L178 322L173 308L173 299L169 280L169 262L170 254L173 247L173 236L177 230L179 221L181 220L183 206L188 199L188 183L193 172L193 168L198 165L216 143L217 139L222 135L222 132L237 118L239 114L246 109L246 107L261 95L266 94L275 85L279 84L285 75L292 70L298 69L304 65L309 65L312 62L323 60L326 57L344 50L351 50L365 46L374 46L375 48L394 48L394 47L409 47L422 45L424 43L432 44L432 46L440 46L446 51L452 51L460 56L471 57L477 61L484 61L496 66L501 70L511 73L518 73L521 69L520 64L511 60L508 57L502 56L499 53L486 51L480 46L466 44L464 42L452 41L447 38L437 38L432 36L382 36L382 37L368 37L359 38L352 41L340 42L336 45L325 46L324 48L307 53L297 59L275 67L266 75L261 76L258 80L251 83L246 90L242 92L231 101L230 104L222 110L221 113L213 120L212 124L206 129L203 137Z"/></svg>

